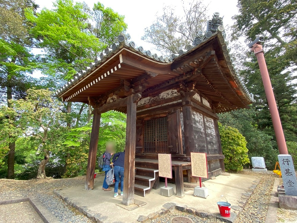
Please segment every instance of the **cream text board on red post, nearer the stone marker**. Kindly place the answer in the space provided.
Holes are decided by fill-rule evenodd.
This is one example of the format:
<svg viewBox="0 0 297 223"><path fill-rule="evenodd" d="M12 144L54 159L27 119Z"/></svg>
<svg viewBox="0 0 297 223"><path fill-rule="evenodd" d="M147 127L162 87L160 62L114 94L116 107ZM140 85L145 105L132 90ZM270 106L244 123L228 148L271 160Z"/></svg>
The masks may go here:
<svg viewBox="0 0 297 223"><path fill-rule="evenodd" d="M191 153L192 176L208 178L206 153Z"/></svg>

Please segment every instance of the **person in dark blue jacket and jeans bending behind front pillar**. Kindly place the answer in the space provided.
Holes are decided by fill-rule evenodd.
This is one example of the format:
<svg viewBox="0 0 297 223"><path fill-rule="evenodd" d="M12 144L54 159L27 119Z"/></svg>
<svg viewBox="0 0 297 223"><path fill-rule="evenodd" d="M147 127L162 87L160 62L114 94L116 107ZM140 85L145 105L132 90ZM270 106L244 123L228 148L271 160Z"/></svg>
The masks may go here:
<svg viewBox="0 0 297 223"><path fill-rule="evenodd" d="M113 155L112 163L114 166L114 168L113 168L114 178L116 179L116 183L114 184L114 196L113 197L117 197L119 195L118 188L119 188L120 180L121 180L121 196L123 196L125 150L124 150L124 152L115 153Z"/></svg>

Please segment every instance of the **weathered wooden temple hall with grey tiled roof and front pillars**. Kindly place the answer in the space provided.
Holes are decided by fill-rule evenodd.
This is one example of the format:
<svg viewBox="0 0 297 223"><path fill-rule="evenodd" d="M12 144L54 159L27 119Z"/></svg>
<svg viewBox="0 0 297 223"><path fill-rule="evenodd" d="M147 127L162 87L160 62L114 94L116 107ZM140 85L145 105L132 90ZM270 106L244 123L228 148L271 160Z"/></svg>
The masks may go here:
<svg viewBox="0 0 297 223"><path fill-rule="evenodd" d="M56 92L65 102L94 108L86 175L93 189L101 114L127 114L123 204L159 188L158 153L172 154L176 196L184 196L191 152L207 153L208 176L225 172L217 113L253 100L233 66L222 18L215 12L192 45L171 56L146 51L119 35L85 70ZM136 169L136 170L135 170ZM162 180L162 179L161 179Z"/></svg>

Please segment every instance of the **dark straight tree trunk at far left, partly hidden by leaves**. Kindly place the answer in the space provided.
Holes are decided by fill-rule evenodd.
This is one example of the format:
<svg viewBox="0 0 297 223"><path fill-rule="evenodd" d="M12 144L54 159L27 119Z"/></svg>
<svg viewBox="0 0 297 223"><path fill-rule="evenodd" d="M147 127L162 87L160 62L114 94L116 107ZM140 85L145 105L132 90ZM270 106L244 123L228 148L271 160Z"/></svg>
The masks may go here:
<svg viewBox="0 0 297 223"><path fill-rule="evenodd" d="M10 108L9 100L12 99L12 89L10 86L6 86L6 97L7 97L7 107ZM10 119L10 117L8 117ZM7 178L12 179L15 174L15 141L13 136L9 136L9 153L7 159ZM11 139L13 142L11 142Z"/></svg>

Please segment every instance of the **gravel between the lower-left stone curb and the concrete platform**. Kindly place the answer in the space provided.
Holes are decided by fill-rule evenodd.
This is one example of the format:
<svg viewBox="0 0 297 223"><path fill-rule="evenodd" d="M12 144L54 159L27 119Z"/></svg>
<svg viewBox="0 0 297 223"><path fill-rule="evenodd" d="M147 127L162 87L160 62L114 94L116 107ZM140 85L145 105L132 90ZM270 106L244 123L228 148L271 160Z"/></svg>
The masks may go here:
<svg viewBox="0 0 297 223"><path fill-rule="evenodd" d="M0 200L34 195L63 223L91 223L92 220L54 196L52 192L58 187L84 185L85 180L85 176L50 180L0 179Z"/></svg>

